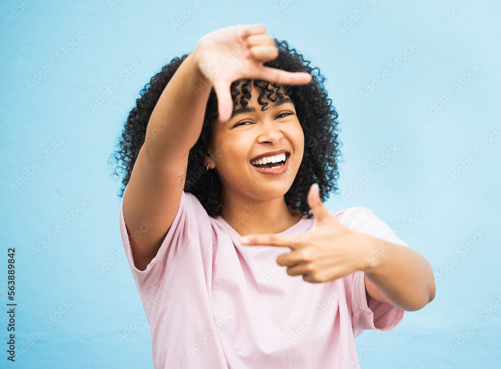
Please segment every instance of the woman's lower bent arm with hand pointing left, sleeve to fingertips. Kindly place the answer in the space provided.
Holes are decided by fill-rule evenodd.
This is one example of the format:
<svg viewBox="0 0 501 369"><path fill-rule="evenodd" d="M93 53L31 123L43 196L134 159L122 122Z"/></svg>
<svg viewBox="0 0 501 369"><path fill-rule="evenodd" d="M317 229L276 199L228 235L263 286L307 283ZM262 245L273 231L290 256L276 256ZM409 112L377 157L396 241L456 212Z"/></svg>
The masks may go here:
<svg viewBox="0 0 501 369"><path fill-rule="evenodd" d="M341 224L322 204L318 185L308 193L315 228L294 235L246 235L242 245L289 247L277 257L287 274L303 275L310 283L343 278L362 270L368 294L375 300L408 311L419 310L435 297L430 263L416 251L355 232Z"/></svg>

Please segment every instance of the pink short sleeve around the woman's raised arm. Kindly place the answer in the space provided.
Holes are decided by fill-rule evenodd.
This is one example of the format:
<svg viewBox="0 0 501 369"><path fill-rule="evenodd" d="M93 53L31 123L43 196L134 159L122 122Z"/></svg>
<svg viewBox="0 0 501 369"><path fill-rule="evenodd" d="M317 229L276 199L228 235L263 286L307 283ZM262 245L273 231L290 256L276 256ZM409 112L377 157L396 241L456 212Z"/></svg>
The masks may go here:
<svg viewBox="0 0 501 369"><path fill-rule="evenodd" d="M127 187L125 188L127 190ZM125 191L124 191L125 194ZM130 246L129 234L125 226L123 214L123 197L120 204L119 226L122 236L122 244L125 249L125 255L132 270L132 274L136 281L136 286L140 290L146 290L159 284L165 274L177 263L182 256L187 245L196 234L196 215L191 198L191 194L186 194L184 191L181 194L179 208L176 216L169 228L165 238L160 245L155 257L151 260L145 270L139 270L134 265L132 251ZM145 230L147 231L148 221L145 221Z"/></svg>

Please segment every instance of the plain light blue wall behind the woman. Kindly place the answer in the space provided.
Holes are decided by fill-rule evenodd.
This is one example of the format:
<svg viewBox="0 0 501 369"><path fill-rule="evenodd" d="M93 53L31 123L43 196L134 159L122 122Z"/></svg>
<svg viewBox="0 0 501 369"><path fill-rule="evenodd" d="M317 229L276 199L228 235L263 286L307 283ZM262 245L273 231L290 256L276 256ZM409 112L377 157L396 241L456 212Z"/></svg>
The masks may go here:
<svg viewBox="0 0 501 369"><path fill-rule="evenodd" d="M209 32L254 23L328 79L343 160L339 194L327 207L372 209L435 272L433 302L406 312L389 333L357 337L361 367L499 363L501 139L493 132L501 127L501 5L200 0L174 29L193 3L0 5L0 304L8 302L9 247L16 247L18 303L15 363L6 358L8 316L0 313L0 366L153 367L149 326L122 252L120 182L108 158L140 89L164 64ZM400 55L407 44L415 49ZM93 107L103 93L107 99ZM390 145L398 149L385 157ZM55 238L39 246L51 232ZM127 326L135 328L124 332Z"/></svg>

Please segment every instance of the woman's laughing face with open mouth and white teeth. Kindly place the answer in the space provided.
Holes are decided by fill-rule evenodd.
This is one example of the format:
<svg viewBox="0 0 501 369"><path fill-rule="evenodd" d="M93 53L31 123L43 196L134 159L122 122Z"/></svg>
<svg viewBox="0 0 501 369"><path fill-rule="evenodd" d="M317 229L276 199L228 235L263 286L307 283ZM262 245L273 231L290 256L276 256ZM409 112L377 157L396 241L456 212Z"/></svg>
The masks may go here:
<svg viewBox="0 0 501 369"><path fill-rule="evenodd" d="M274 103L263 98L268 105L261 111L258 96L253 87L246 107L237 106L228 121L213 124L206 165L211 162L217 172L223 196L230 191L246 200L281 197L303 159L304 134L293 101L288 96Z"/></svg>

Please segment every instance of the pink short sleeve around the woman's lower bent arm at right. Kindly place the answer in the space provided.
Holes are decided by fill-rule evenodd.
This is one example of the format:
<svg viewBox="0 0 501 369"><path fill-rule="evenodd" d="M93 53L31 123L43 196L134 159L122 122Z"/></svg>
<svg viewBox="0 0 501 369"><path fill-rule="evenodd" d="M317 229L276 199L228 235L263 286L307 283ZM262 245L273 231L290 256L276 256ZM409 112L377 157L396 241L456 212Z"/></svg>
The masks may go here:
<svg viewBox="0 0 501 369"><path fill-rule="evenodd" d="M397 245L409 247L398 238L395 232L372 210L357 206L349 208L343 214L344 225L355 232L368 234L374 238ZM391 304L379 302L369 297L367 301L365 289L365 273L356 271L351 279L352 326L356 336L364 330L375 329L387 332L395 328L403 319L404 310Z"/></svg>

